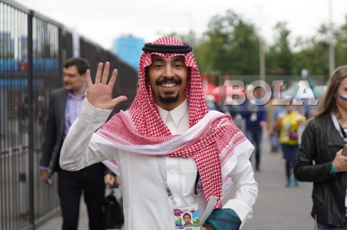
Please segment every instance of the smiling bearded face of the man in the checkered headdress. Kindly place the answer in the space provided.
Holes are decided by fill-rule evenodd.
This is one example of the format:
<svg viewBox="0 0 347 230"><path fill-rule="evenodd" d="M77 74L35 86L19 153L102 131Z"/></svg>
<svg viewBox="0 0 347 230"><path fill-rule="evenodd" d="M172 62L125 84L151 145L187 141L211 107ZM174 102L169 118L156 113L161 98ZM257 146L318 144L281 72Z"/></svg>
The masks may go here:
<svg viewBox="0 0 347 230"><path fill-rule="evenodd" d="M164 58L153 55L152 64L147 67L147 83L154 102L169 111L180 105L185 99L188 76L183 56Z"/></svg>

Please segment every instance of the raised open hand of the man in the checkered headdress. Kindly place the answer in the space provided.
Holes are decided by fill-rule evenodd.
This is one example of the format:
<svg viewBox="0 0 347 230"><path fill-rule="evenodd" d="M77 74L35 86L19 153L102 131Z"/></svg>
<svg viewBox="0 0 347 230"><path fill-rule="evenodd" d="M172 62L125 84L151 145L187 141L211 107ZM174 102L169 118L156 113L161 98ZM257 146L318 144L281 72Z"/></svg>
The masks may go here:
<svg viewBox="0 0 347 230"><path fill-rule="evenodd" d="M95 83L93 84L90 77L90 70L87 70L87 99L94 107L99 109L113 109L118 103L126 100L126 96L118 96L112 98L112 91L116 84L117 70L114 69L112 72L109 84L107 80L110 72L110 62L105 63L104 73L103 63L99 63L98 70L95 75Z"/></svg>

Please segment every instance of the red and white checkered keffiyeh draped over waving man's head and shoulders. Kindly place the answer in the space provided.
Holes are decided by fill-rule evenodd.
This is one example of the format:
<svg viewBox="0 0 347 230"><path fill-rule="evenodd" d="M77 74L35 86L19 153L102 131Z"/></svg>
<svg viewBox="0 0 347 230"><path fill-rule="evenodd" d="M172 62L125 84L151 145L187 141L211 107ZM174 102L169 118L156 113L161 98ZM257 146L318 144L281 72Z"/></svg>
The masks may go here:
<svg viewBox="0 0 347 230"><path fill-rule="evenodd" d="M160 38L153 44L183 46L181 41L171 37ZM184 134L172 135L161 119L151 88L145 83L146 66L151 64L152 55L165 58L184 56L185 65L190 68L190 84L186 88L190 127L187 133L195 132L194 138L186 138ZM228 193L232 183L228 174L237 161L236 157L231 161L231 157L237 155L236 151L241 154L245 148L249 150L252 147L249 141L229 116L216 111L209 112L207 109L201 77L192 52L144 52L139 63L139 78L140 87L130 108L112 117L97 134L117 144L131 146L132 149L141 146L138 151L144 151L143 154L147 154L145 146L150 145L154 146L148 152L150 155L193 157L207 201L209 197L216 196L216 207L221 207L222 197ZM158 149L155 149L155 146L158 146ZM251 149L248 152L251 152ZM248 152L246 154L249 154Z"/></svg>

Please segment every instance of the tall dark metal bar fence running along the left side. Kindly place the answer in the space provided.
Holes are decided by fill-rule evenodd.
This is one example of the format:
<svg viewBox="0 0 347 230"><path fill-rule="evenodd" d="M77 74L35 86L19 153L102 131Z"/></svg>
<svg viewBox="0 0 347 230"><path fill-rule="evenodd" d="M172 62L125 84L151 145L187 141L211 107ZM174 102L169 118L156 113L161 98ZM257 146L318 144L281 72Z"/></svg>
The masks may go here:
<svg viewBox="0 0 347 230"><path fill-rule="evenodd" d="M111 52L79 38L91 64L109 60L118 69L114 95L129 100L137 74ZM63 25L12 1L0 0L0 229L35 229L59 210L57 178L40 179L39 160L49 92L61 87L62 63L73 54L72 33ZM121 87L119 87L121 86Z"/></svg>

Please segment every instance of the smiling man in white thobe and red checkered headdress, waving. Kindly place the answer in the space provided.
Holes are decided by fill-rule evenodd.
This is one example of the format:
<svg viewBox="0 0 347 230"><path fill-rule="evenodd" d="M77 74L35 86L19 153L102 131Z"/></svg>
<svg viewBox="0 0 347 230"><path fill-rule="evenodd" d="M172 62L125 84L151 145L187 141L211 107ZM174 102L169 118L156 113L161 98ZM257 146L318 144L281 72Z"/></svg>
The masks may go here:
<svg viewBox="0 0 347 230"><path fill-rule="evenodd" d="M201 220L211 197L215 209L203 228L241 228L258 195L253 146L230 117L206 108L190 46L164 37L143 50L134 102L104 126L126 97L111 97L117 72L107 84L110 63L103 74L99 64L95 84L87 72L87 96L62 146L61 168L101 161L112 168L122 179L126 230L181 229L177 210L198 207Z"/></svg>

